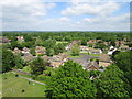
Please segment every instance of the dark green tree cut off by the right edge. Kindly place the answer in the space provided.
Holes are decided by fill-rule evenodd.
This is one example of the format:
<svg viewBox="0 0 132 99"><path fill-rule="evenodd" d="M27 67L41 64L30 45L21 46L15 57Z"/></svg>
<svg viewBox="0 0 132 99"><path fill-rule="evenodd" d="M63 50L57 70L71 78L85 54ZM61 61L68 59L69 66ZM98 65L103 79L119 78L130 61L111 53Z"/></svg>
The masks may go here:
<svg viewBox="0 0 132 99"><path fill-rule="evenodd" d="M118 67L124 72L125 86L129 90L130 96L132 97L132 51L121 52L114 56L114 62Z"/></svg>

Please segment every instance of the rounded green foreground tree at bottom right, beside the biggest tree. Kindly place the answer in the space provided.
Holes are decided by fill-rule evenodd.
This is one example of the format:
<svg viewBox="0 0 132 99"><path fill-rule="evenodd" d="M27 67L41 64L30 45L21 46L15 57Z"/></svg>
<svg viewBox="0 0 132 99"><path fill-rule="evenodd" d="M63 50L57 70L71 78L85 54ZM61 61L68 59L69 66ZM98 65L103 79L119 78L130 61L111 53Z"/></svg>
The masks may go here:
<svg viewBox="0 0 132 99"><path fill-rule="evenodd" d="M97 80L98 97L129 97L122 78L123 72L116 65L107 67Z"/></svg>

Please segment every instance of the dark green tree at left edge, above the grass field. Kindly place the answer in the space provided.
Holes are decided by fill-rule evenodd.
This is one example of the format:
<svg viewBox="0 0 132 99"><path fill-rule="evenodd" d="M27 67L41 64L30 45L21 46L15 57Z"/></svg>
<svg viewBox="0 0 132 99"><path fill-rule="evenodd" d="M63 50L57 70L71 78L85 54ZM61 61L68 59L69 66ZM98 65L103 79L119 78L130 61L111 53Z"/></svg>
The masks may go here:
<svg viewBox="0 0 132 99"><path fill-rule="evenodd" d="M14 55L11 51L2 48L2 72L8 72L15 66Z"/></svg>

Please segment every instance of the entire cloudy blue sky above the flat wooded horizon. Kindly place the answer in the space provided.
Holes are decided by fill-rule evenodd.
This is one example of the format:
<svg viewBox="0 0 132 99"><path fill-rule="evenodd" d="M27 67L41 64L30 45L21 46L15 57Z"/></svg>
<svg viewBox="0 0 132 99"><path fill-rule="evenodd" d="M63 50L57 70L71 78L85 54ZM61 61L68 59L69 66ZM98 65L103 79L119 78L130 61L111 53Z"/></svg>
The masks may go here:
<svg viewBox="0 0 132 99"><path fill-rule="evenodd" d="M130 31L130 1L2 0L1 31Z"/></svg>

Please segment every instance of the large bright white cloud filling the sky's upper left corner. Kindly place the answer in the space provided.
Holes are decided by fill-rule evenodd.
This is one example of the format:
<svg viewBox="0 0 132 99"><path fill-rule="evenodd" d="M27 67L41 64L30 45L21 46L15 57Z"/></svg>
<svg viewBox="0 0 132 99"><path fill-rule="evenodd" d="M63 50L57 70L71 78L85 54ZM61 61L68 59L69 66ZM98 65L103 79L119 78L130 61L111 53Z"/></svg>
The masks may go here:
<svg viewBox="0 0 132 99"><path fill-rule="evenodd" d="M44 16L55 3L42 3L41 0L2 0L2 18L4 21L26 20L28 18Z"/></svg>

